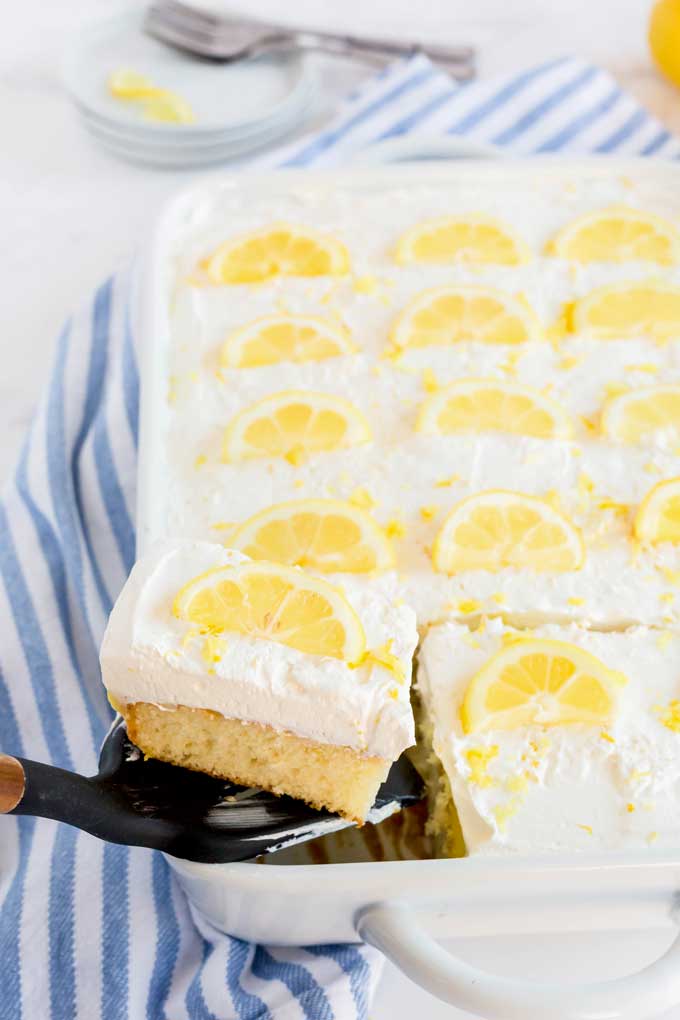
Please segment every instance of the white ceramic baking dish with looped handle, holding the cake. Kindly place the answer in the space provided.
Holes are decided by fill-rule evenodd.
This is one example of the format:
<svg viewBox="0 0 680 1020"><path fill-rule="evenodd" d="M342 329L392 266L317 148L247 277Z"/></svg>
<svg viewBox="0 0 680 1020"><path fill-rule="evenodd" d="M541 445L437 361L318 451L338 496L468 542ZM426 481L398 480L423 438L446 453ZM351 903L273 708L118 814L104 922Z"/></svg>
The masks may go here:
<svg viewBox="0 0 680 1020"><path fill-rule="evenodd" d="M215 189L244 201L301 182L376 189L462 175L499 189L509 174L568 174L592 181L621 174L650 189L680 190L680 169L652 160L541 159L465 162L322 175L283 171L211 178L181 193L158 223L141 288L142 410L138 542L162 533L161 407L168 342L169 243L196 203ZM483 1017L504 1020L617 1018L644 1020L680 1006L680 938L639 974L595 985L533 985L479 972L449 956L437 937L674 925L680 848L618 855L537 859L386 861L362 864L205 865L169 859L192 902L218 928L279 945L366 941L432 993Z"/></svg>

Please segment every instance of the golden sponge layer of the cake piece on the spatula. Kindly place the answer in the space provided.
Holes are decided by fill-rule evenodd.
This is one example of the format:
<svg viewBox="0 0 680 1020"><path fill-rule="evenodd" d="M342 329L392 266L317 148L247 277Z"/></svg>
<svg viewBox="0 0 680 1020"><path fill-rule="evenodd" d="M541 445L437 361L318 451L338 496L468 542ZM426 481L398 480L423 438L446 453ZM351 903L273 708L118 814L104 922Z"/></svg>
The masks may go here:
<svg viewBox="0 0 680 1020"><path fill-rule="evenodd" d="M137 703L122 714L130 740L151 758L287 794L360 824L391 764L206 709Z"/></svg>

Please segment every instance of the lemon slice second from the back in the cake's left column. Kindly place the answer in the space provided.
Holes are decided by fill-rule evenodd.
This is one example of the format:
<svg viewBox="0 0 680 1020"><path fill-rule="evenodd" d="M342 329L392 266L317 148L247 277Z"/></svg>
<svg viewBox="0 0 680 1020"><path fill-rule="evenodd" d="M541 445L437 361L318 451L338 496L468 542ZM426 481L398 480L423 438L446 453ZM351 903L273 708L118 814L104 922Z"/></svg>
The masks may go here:
<svg viewBox="0 0 680 1020"><path fill-rule="evenodd" d="M221 362L230 368L254 368L280 361L322 361L356 348L334 322L312 315L263 315L227 337Z"/></svg>

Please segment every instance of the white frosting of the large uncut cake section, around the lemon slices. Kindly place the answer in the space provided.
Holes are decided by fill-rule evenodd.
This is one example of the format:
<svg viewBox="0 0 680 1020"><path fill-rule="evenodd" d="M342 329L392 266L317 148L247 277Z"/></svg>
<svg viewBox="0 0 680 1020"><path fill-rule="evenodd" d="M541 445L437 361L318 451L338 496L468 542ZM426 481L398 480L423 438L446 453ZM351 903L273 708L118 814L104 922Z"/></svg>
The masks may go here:
<svg viewBox="0 0 680 1020"><path fill-rule="evenodd" d="M473 283L522 293L550 323L565 301L593 287L648 276L648 265L574 267L541 255L564 223L616 203L667 215L678 208L677 195L657 185L636 188L595 174L575 188L567 176L546 173L527 180L525 172L515 176L512 168L503 189L498 180L490 187L471 178L457 182L455 189L431 185L381 191L283 181L279 191L258 195L253 203L244 202L233 189L207 186L168 256L171 343L167 363L159 370L169 376L172 399L157 422L163 443L158 458L162 484L156 491L164 502L152 521L152 538L188 536L228 544L228 529L216 529L216 524L243 521L284 500L348 499L361 488L375 501L372 512L378 521L399 519L406 528L395 543L397 570L371 583L389 598L406 599L422 625L458 613L460 603L470 602L482 612L503 610L531 620L587 619L599 626L633 620L680 623L680 600L676 606L669 580L680 571L680 553L664 549L633 562L632 512L622 519L597 507L598 501L614 500L634 508L657 481L680 475L680 457L663 443L631 449L594 442L581 421L582 415L596 417L612 384L680 381L680 345L575 337L559 350L548 343L517 348L462 344L408 352L400 365L382 357L397 314L428 287ZM395 263L394 246L402 231L431 216L481 208L517 230L534 252L531 262L477 268ZM286 277L257 287L190 283L199 260L225 237L280 220L343 240L353 273L334 280ZM680 268L655 267L653 272L680 283ZM357 285L358 277L368 277L370 293L365 279ZM359 352L306 364L218 371L221 345L232 329L280 310L339 316ZM461 376L493 375L541 390L550 387L576 419L575 442L418 436L416 416L428 396L425 369L442 385ZM226 423L244 407L285 389L318 390L351 400L368 418L373 443L320 453L298 467L281 459L222 464ZM452 484L441 484L452 477ZM584 499L584 479L594 486L589 501ZM448 510L471 493L495 488L538 496L557 492L583 529L583 569L533 576L516 570L453 578L434 573L430 550ZM424 519L423 507L426 512L434 507L434 514ZM667 568L666 574L660 568Z"/></svg>

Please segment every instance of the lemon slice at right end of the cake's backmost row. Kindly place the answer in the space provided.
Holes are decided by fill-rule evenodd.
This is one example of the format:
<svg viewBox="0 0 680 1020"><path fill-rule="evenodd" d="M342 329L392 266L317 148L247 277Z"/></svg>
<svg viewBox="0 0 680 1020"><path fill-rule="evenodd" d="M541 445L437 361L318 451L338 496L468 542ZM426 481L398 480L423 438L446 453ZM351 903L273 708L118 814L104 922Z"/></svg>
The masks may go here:
<svg viewBox="0 0 680 1020"><path fill-rule="evenodd" d="M575 262L639 259L673 265L680 261L680 234L661 216L622 206L591 212L569 223L554 238L547 252Z"/></svg>

